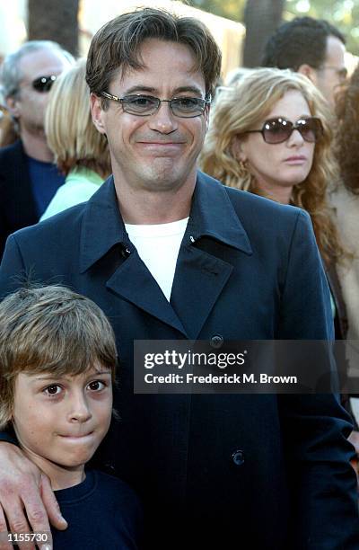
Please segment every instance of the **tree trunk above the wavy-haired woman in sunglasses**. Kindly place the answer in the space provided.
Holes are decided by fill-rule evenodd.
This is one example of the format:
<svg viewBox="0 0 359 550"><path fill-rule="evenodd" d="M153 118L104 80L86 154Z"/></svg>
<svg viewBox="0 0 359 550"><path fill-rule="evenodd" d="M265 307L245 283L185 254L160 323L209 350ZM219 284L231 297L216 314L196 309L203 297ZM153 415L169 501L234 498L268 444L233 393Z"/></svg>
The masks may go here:
<svg viewBox="0 0 359 550"><path fill-rule="evenodd" d="M243 66L258 67L269 37L282 21L285 0L247 0Z"/></svg>

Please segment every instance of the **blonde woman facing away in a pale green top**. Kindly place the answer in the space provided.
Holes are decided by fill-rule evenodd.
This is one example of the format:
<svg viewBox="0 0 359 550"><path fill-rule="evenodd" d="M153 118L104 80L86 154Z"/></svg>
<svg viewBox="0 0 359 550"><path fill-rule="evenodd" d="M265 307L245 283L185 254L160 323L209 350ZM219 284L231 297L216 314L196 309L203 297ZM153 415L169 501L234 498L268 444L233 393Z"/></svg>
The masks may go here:
<svg viewBox="0 0 359 550"><path fill-rule="evenodd" d="M109 146L92 124L86 60L80 59L57 78L48 100L45 131L48 146L66 181L40 220L89 200L111 173Z"/></svg>

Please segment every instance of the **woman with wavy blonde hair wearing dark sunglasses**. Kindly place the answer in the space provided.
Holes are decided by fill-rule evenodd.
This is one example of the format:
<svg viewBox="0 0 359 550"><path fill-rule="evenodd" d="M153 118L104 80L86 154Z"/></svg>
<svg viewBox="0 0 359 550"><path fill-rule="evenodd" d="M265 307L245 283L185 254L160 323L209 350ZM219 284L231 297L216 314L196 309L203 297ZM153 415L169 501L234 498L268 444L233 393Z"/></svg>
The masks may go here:
<svg viewBox="0 0 359 550"><path fill-rule="evenodd" d="M345 251L327 201L328 182L337 177L329 117L305 76L253 70L220 94L200 164L226 185L309 212L334 297L337 337L344 337L346 313L335 265Z"/></svg>

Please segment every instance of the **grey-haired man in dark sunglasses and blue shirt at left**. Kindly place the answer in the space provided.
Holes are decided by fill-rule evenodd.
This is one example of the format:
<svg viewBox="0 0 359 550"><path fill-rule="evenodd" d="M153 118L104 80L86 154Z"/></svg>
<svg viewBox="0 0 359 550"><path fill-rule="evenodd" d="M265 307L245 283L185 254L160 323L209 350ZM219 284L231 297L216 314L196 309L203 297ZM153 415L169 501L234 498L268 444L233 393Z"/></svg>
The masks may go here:
<svg viewBox="0 0 359 550"><path fill-rule="evenodd" d="M8 235L35 224L65 177L44 132L48 92L73 57L56 42L33 40L4 59L1 84L20 139L0 149L0 257Z"/></svg>

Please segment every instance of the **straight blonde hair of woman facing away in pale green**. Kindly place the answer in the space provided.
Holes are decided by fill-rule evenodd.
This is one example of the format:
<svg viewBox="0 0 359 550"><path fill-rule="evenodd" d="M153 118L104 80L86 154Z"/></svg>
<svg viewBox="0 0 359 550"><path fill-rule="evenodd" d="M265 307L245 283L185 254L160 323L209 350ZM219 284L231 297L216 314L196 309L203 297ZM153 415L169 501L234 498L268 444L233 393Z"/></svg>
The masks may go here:
<svg viewBox="0 0 359 550"><path fill-rule="evenodd" d="M62 172L83 166L105 178L111 173L109 146L92 123L85 72L86 60L79 59L57 78L49 93L45 131Z"/></svg>

